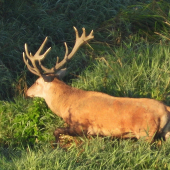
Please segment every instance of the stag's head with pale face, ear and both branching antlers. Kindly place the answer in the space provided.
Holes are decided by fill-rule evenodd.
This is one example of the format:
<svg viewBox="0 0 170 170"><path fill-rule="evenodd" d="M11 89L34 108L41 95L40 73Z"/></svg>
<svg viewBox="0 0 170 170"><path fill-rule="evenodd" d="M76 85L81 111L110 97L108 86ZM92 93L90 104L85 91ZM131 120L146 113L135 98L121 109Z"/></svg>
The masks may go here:
<svg viewBox="0 0 170 170"><path fill-rule="evenodd" d="M44 54L40 54L47 42L48 39L47 37L45 38L44 42L41 44L40 48L38 49L38 51L35 53L34 56L32 55L31 52L30 53L28 52L28 46L27 44L25 44L25 52L23 52L23 60L27 65L28 70L33 74L39 76L37 81L28 89L27 96L44 97L46 91L48 91L49 88L48 86L50 86L50 84L47 82L52 82L54 78L58 78L58 79L63 78L66 73L66 68L62 68L62 67L69 60L71 60L71 58L74 56L74 54L77 52L77 50L81 45L94 38L93 30L90 32L88 36L86 36L85 28L82 28L83 33L81 36L79 36L76 27L73 28L76 34L76 42L72 51L70 52L70 54L68 54L68 46L67 43L65 42L64 45L65 45L66 52L63 60L59 62L59 58L57 57L56 64L51 69L48 69L41 64L41 61L46 57L46 55L51 50L50 47L44 52ZM26 59L26 57L29 60ZM31 65L29 64L29 62L31 62Z"/></svg>

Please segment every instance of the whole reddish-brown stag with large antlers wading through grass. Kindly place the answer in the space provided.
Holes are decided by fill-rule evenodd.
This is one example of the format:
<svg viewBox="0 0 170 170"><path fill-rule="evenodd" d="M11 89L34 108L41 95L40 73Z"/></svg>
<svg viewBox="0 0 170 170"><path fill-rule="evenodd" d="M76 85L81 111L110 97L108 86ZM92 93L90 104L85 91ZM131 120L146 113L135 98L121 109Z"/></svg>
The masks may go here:
<svg viewBox="0 0 170 170"><path fill-rule="evenodd" d="M65 43L65 56L55 67L47 69L41 64L50 51L49 48L40 55L47 38L33 56L28 53L25 44L23 59L28 69L39 76L36 82L28 89L27 96L42 97L49 108L62 117L69 125L66 128L57 128L54 131L56 142L60 134L67 135L101 135L118 138L141 138L154 141L162 137L166 140L170 131L170 107L159 101L147 98L114 97L101 92L84 91L66 85L60 81L66 69L61 69L70 60L78 48L94 38L93 31L86 36L85 29L79 37L77 29L75 46L68 54Z"/></svg>

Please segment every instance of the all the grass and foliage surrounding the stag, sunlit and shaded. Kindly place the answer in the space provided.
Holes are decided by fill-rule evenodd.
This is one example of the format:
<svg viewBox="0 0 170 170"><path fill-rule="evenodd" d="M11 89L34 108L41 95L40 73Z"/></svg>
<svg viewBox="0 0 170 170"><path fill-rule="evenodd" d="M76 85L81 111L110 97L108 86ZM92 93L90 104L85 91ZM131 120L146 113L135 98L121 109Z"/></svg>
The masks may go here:
<svg viewBox="0 0 170 170"><path fill-rule="evenodd" d="M169 144L63 136L65 126L42 99L25 99L36 76L22 59L24 43L36 52L46 36L49 68L71 49L75 34L94 30L67 64L71 86L114 96L148 97L170 105L169 0L0 0L0 169L170 169Z"/></svg>

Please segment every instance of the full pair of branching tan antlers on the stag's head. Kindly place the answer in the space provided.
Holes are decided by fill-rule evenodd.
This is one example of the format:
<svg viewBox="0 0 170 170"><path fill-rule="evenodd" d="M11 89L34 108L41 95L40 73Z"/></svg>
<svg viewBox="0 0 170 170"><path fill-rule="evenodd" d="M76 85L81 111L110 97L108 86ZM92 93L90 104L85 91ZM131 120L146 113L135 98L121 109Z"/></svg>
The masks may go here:
<svg viewBox="0 0 170 170"><path fill-rule="evenodd" d="M42 76L43 74L56 74L56 72L58 70L61 69L62 66L64 66L64 64L69 61L73 55L77 52L77 50L79 49L79 47L84 44L85 42L87 42L88 40L91 40L94 38L93 36L93 30L90 32L90 34L88 36L86 36L86 31L85 31L85 28L82 28L83 30L83 33L81 35L81 37L79 37L79 34L78 34L78 31L76 29L76 27L73 27L74 30L75 30L75 33L76 33L76 42L75 42L75 45L71 51L71 53L68 55L68 46L67 46L67 43L65 42L64 45L65 45L65 48L66 48L66 52L65 52L65 56L63 58L63 60L61 62L58 62L58 57L57 57L57 62L56 62L56 65L51 68L51 69L48 69L46 67L44 67L42 64L41 64L41 60L43 60L45 58L45 56L49 53L49 51L51 50L51 47L48 48L44 54L40 55L45 43L47 42L47 37L45 38L44 42L42 43L42 45L40 46L40 48L38 49L38 51L35 53L35 55L33 56L31 53L29 54L28 53L28 47L27 47L27 44L25 44L25 53L26 53L26 56L28 57L28 59L31 61L32 63L32 66L29 65L28 63L28 60L26 60L26 57L25 57L25 53L23 52L23 59L24 59L24 62L25 64L27 65L28 69L33 73L33 74L36 74L38 76ZM38 61L38 64L39 64L39 67L41 67L42 70L40 70L37 65L36 65L36 61Z"/></svg>

